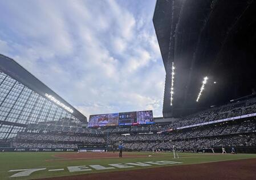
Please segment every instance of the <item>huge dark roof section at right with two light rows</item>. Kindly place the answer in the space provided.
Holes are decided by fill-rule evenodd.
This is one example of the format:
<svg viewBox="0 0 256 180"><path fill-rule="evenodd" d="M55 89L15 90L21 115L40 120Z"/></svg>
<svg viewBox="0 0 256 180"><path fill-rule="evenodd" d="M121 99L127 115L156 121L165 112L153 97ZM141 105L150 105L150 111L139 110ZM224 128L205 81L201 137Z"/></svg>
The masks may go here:
<svg viewBox="0 0 256 180"><path fill-rule="evenodd" d="M251 0L157 0L153 23L166 71L164 117L255 95L255 4ZM208 80L197 101L204 77Z"/></svg>

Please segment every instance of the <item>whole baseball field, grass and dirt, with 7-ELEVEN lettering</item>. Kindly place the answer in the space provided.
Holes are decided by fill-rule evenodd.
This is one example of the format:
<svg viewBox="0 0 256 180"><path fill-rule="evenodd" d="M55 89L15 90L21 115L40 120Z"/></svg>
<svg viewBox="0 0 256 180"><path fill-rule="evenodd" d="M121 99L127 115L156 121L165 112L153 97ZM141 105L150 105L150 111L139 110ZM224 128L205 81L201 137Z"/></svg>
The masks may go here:
<svg viewBox="0 0 256 180"><path fill-rule="evenodd" d="M255 179L256 154L0 153L0 179Z"/></svg>

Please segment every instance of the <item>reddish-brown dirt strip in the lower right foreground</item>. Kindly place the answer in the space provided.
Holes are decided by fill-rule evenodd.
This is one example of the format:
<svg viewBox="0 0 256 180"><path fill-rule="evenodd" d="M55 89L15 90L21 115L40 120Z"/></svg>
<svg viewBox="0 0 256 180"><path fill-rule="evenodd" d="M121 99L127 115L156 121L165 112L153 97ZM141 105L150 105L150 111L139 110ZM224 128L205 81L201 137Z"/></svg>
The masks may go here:
<svg viewBox="0 0 256 180"><path fill-rule="evenodd" d="M256 158L235 161L201 163L150 169L117 171L109 173L73 175L69 177L47 178L47 180L130 180L130 179L256 179Z"/></svg>

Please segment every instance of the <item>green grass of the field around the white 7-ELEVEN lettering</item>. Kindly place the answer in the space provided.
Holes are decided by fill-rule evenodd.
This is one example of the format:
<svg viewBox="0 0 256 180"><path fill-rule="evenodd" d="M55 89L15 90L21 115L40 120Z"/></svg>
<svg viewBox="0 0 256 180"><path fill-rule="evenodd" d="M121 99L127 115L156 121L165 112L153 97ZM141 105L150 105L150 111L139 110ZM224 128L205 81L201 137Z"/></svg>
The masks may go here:
<svg viewBox="0 0 256 180"><path fill-rule="evenodd" d="M61 177L76 174L86 174L86 173L101 173L109 171L123 171L123 170L134 170L161 166L176 166L176 165L188 165L194 163L205 163L205 162L217 162L217 161L229 161L234 159L246 159L246 158L256 158L256 154L200 154L200 153L180 153L179 159L174 159L172 153L139 153L139 152L129 152L124 153L133 157L124 158L95 158L94 156L90 158L80 158L80 159L65 159L63 157L56 157L60 153L56 152L13 152L13 153L0 153L0 179L35 179L35 178L47 178L47 177ZM61 153L68 155L75 155L75 152ZM82 154L83 153L79 153ZM86 154L86 153L85 153ZM110 154L110 153L109 153ZM118 156L118 153L116 153ZM140 156L140 157L135 157ZM150 157L149 157L150 156ZM164 163L156 161L174 161L180 163ZM136 166L128 165L124 163L136 163L136 162L149 162L149 166ZM151 162L151 163L150 163ZM109 164L121 163L124 168L118 168L111 166ZM101 165L104 167L111 167L112 169L96 170L90 165ZM68 166L87 166L82 167L83 171L70 172ZM117 165L118 166L118 165ZM28 176L24 177L11 177L12 175L19 173L20 171L10 171L18 169L41 169L35 171ZM44 169L46 168L46 169ZM90 168L90 169L89 169ZM49 171L55 170L56 171ZM64 170L60 170L64 169Z"/></svg>

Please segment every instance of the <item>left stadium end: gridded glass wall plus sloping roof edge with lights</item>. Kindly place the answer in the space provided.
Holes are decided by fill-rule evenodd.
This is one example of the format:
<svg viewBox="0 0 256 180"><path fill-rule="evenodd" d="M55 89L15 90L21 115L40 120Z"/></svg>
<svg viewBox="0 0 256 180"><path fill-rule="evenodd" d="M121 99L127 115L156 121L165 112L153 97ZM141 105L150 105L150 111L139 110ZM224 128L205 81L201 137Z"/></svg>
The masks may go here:
<svg viewBox="0 0 256 180"><path fill-rule="evenodd" d="M0 140L17 136L27 125L87 118L13 59L0 55Z"/></svg>

